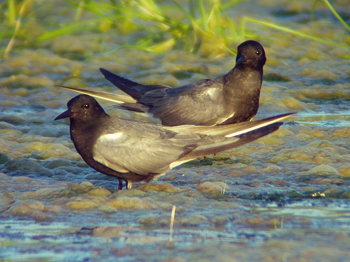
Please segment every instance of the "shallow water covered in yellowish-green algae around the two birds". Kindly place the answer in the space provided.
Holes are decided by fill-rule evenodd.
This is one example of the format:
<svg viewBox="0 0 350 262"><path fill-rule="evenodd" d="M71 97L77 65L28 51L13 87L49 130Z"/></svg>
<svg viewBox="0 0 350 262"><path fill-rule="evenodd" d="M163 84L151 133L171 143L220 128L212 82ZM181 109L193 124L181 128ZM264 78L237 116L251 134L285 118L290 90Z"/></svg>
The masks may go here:
<svg viewBox="0 0 350 262"><path fill-rule="evenodd" d="M345 37L326 8L311 22L313 2L293 2L245 1L230 15ZM350 12L342 1L335 7ZM60 37L0 61L0 260L346 261L349 49L248 25L267 54L257 118L298 114L256 142L119 192L117 180L80 158L68 121L53 122L76 95L53 85L120 92L99 67L143 83L185 84L226 73L234 57L109 52L136 36L107 32ZM109 114L142 119L100 102Z"/></svg>

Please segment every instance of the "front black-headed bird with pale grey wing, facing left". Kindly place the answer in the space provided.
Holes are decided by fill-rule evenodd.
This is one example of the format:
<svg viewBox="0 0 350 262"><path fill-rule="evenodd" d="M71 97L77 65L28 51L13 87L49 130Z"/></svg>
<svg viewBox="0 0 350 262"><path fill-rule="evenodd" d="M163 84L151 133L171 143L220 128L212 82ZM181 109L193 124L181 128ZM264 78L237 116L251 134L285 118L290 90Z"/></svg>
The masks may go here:
<svg viewBox="0 0 350 262"><path fill-rule="evenodd" d="M226 126L176 126L125 120L107 115L88 95L70 99L68 110L54 120L70 117L70 138L84 161L119 180L119 189L134 181L150 181L173 167L237 147L276 131L292 114Z"/></svg>

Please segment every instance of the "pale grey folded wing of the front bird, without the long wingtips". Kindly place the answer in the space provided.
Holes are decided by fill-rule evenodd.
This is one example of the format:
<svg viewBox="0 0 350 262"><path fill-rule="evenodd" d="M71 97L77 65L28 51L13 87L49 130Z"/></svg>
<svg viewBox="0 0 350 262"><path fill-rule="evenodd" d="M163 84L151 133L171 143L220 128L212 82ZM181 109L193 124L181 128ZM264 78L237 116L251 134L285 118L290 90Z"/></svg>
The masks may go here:
<svg viewBox="0 0 350 262"><path fill-rule="evenodd" d="M177 134L156 125L124 121L123 132L100 136L93 148L95 161L116 171L139 175L161 174L170 164L192 151L200 137Z"/></svg>

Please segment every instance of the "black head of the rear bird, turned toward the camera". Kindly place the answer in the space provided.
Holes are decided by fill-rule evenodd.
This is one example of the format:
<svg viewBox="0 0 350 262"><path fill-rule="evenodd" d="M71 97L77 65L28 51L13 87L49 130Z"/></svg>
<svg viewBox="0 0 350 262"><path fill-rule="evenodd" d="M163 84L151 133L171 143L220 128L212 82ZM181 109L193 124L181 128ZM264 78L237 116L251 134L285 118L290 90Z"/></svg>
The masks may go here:
<svg viewBox="0 0 350 262"><path fill-rule="evenodd" d="M262 69L265 62L265 50L259 42L248 40L238 46L236 66L242 65Z"/></svg>

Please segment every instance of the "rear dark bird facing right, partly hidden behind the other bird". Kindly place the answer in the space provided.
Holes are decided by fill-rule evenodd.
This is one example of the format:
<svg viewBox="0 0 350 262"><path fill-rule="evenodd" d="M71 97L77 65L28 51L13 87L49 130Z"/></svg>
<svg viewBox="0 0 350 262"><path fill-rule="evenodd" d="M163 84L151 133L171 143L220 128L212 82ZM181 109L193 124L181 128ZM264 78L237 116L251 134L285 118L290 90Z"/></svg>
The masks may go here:
<svg viewBox="0 0 350 262"><path fill-rule="evenodd" d="M238 46L236 65L222 77L170 87L143 85L100 68L129 96L61 87L114 101L117 108L150 113L165 126L227 125L250 121L257 114L265 62L262 45L248 40Z"/></svg>

